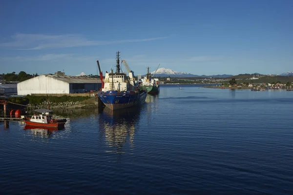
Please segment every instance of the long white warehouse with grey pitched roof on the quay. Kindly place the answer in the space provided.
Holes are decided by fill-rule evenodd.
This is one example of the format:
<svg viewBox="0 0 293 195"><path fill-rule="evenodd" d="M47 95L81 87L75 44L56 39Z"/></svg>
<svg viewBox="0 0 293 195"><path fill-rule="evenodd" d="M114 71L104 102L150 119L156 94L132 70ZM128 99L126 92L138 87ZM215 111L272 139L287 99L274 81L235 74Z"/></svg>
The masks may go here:
<svg viewBox="0 0 293 195"><path fill-rule="evenodd" d="M101 79L73 76L40 75L17 83L17 94L73 94L98 91Z"/></svg>

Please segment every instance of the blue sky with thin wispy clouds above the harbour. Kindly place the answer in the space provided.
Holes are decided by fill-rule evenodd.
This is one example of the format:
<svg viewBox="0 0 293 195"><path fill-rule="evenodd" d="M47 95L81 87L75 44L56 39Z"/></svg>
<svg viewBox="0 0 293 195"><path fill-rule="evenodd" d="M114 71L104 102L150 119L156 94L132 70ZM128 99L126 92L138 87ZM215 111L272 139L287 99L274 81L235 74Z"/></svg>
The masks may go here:
<svg viewBox="0 0 293 195"><path fill-rule="evenodd" d="M292 0L2 0L0 73L293 71Z"/></svg>

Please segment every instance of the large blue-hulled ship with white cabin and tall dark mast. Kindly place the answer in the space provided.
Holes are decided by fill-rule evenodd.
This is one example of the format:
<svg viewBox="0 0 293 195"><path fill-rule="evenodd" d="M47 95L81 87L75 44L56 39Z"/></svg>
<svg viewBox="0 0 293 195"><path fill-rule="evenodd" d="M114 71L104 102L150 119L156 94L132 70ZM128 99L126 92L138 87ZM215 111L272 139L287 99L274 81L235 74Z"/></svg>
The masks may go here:
<svg viewBox="0 0 293 195"><path fill-rule="evenodd" d="M126 63L122 60L126 67L126 73L122 73L120 67L120 52L116 53L116 72L105 74L104 87L98 92L99 98L111 110L117 110L132 106L138 106L146 101L146 90L141 90L141 83L135 81L133 71L131 71ZM101 72L101 71L100 71Z"/></svg>

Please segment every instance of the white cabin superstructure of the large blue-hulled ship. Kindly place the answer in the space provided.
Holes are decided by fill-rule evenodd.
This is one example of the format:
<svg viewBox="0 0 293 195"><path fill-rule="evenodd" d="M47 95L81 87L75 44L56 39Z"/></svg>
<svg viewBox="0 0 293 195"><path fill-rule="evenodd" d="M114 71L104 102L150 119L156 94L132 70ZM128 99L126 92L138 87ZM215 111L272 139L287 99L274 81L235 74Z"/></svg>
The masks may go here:
<svg viewBox="0 0 293 195"><path fill-rule="evenodd" d="M107 73L105 74L103 92L106 91L131 91L135 88L135 78L132 72L127 77L125 73Z"/></svg>

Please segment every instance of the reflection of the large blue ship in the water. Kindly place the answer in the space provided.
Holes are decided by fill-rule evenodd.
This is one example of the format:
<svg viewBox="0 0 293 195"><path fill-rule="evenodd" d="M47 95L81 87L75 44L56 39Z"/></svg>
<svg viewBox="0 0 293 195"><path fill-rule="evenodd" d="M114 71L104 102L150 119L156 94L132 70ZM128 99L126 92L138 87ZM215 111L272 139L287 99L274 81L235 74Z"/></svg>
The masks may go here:
<svg viewBox="0 0 293 195"><path fill-rule="evenodd" d="M112 111L104 108L100 112L100 132L105 134L106 152L125 153L124 145L128 142L130 150L134 147L134 134L138 131L140 108L133 107Z"/></svg>

